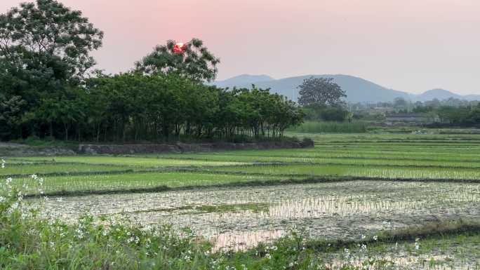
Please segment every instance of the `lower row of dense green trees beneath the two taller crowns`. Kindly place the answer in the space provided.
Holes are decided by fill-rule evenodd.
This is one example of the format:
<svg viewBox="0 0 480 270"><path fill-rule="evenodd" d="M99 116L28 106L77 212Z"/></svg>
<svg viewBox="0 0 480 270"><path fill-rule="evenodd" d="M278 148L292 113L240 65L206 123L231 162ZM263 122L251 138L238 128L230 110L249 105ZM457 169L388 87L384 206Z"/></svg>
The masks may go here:
<svg viewBox="0 0 480 270"><path fill-rule="evenodd" d="M8 123L3 137L10 139L19 137L11 130L20 120L35 123L34 130L42 132L39 137L63 140L278 138L303 117L294 102L269 90L228 91L174 73L88 79L85 88L67 87L42 97L36 109L21 118L15 115L23 104L20 97L0 97L0 102L0 121Z"/></svg>

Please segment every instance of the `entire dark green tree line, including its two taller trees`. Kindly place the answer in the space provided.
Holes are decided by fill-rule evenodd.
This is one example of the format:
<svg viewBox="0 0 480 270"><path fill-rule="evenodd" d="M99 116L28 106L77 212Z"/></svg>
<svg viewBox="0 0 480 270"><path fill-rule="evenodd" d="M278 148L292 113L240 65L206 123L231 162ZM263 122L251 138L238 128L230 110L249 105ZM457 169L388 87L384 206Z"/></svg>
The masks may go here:
<svg viewBox="0 0 480 270"><path fill-rule="evenodd" d="M208 85L220 62L199 39L156 46L131 71L93 70L103 32L54 0L0 15L0 139L281 137L302 109L269 89Z"/></svg>

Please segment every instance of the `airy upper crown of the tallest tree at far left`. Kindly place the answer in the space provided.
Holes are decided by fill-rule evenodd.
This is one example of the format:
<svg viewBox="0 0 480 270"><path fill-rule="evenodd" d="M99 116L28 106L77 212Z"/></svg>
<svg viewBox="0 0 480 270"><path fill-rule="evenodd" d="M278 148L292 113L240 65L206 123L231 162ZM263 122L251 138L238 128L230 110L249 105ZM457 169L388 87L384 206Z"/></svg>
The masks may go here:
<svg viewBox="0 0 480 270"><path fill-rule="evenodd" d="M102 46L102 37L81 11L54 0L22 3L0 15L0 58L55 79L83 77L95 65L89 52Z"/></svg>

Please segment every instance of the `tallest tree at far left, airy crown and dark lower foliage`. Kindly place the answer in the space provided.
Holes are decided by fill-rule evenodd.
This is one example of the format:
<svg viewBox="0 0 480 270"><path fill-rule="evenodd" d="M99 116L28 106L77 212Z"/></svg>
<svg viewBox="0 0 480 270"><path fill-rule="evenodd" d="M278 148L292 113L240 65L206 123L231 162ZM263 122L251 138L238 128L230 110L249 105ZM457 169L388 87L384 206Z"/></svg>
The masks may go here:
<svg viewBox="0 0 480 270"><path fill-rule="evenodd" d="M6 100L25 101L17 114L27 133L44 133L46 127L53 135L55 124L68 133L72 117L66 119L60 109L69 112L76 97L64 97L72 96L95 65L90 53L100 48L102 37L81 11L55 0L23 3L0 14L0 92Z"/></svg>

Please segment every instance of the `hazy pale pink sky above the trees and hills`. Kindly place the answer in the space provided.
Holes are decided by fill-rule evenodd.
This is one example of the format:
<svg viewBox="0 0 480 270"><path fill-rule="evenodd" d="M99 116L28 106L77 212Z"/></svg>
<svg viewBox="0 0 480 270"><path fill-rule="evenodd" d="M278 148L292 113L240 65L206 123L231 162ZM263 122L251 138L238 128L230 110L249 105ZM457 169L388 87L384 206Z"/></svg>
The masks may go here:
<svg viewBox="0 0 480 270"><path fill-rule="evenodd" d="M1 0L0 12L22 1ZM202 39L218 79L348 74L395 90L480 94L479 0L62 0L103 32L125 72L168 39Z"/></svg>

